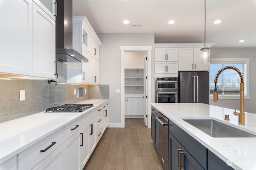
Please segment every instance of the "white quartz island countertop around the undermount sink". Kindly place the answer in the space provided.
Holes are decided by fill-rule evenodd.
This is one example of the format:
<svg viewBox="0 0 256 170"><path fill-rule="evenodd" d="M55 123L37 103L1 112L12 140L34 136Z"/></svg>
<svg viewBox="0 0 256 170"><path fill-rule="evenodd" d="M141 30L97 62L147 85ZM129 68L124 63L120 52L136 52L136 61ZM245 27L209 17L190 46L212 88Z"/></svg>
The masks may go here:
<svg viewBox="0 0 256 170"><path fill-rule="evenodd" d="M256 170L256 138L210 137L182 120L184 117L213 118L256 135L256 114L245 112L245 125L238 125L238 116L233 115L234 110L224 107L201 103L152 103L151 105L224 162L231 161L232 168ZM225 114L229 115L230 121L224 121Z"/></svg>

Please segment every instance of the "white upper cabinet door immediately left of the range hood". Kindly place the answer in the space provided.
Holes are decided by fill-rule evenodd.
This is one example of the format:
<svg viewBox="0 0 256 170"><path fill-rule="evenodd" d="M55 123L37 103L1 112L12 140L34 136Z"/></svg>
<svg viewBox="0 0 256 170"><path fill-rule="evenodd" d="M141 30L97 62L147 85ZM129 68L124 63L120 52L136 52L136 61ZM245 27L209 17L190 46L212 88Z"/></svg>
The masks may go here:
<svg viewBox="0 0 256 170"><path fill-rule="evenodd" d="M54 78L55 21L34 3L33 18L33 74Z"/></svg>

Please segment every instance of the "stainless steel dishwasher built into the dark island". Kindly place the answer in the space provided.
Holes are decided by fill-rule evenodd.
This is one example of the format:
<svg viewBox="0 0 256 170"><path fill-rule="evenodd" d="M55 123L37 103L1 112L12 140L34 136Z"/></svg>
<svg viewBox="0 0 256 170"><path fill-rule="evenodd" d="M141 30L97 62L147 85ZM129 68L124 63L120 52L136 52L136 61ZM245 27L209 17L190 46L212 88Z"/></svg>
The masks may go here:
<svg viewBox="0 0 256 170"><path fill-rule="evenodd" d="M164 170L169 170L169 120L160 112L156 120L159 123L159 159Z"/></svg>

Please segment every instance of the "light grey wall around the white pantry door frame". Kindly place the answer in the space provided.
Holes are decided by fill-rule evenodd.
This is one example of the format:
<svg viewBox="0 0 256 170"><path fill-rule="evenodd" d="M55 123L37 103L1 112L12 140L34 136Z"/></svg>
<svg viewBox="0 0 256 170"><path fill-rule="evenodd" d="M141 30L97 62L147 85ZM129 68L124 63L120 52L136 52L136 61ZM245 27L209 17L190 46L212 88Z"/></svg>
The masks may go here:
<svg viewBox="0 0 256 170"><path fill-rule="evenodd" d="M100 84L110 85L109 122L112 125L119 124L121 123L121 95L116 93L116 89L121 89L120 46L152 46L152 75L154 76L154 33L99 33L98 37L102 42ZM152 80L154 80L153 77ZM154 95L154 89L152 95Z"/></svg>

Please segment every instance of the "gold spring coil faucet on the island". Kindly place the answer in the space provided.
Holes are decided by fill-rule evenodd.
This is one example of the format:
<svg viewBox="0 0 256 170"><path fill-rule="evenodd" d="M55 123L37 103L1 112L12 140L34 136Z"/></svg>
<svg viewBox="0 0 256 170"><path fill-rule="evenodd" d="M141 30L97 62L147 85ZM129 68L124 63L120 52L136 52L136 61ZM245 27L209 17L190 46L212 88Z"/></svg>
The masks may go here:
<svg viewBox="0 0 256 170"><path fill-rule="evenodd" d="M227 69L232 69L235 70L239 76L240 76L240 90L223 90L223 91L217 91L217 82L218 82L218 78L220 76L220 73L222 73L222 71L227 70ZM239 125L245 125L245 113L244 113L244 76L242 74L242 72L234 67L234 66L224 66L223 68L220 68L220 70L216 73L215 76L215 87L214 87L214 93L213 93L213 101L217 102L218 101L218 93L240 93L240 113L236 112L236 105L235 105L235 111L233 112L234 115L238 116L238 124Z"/></svg>

